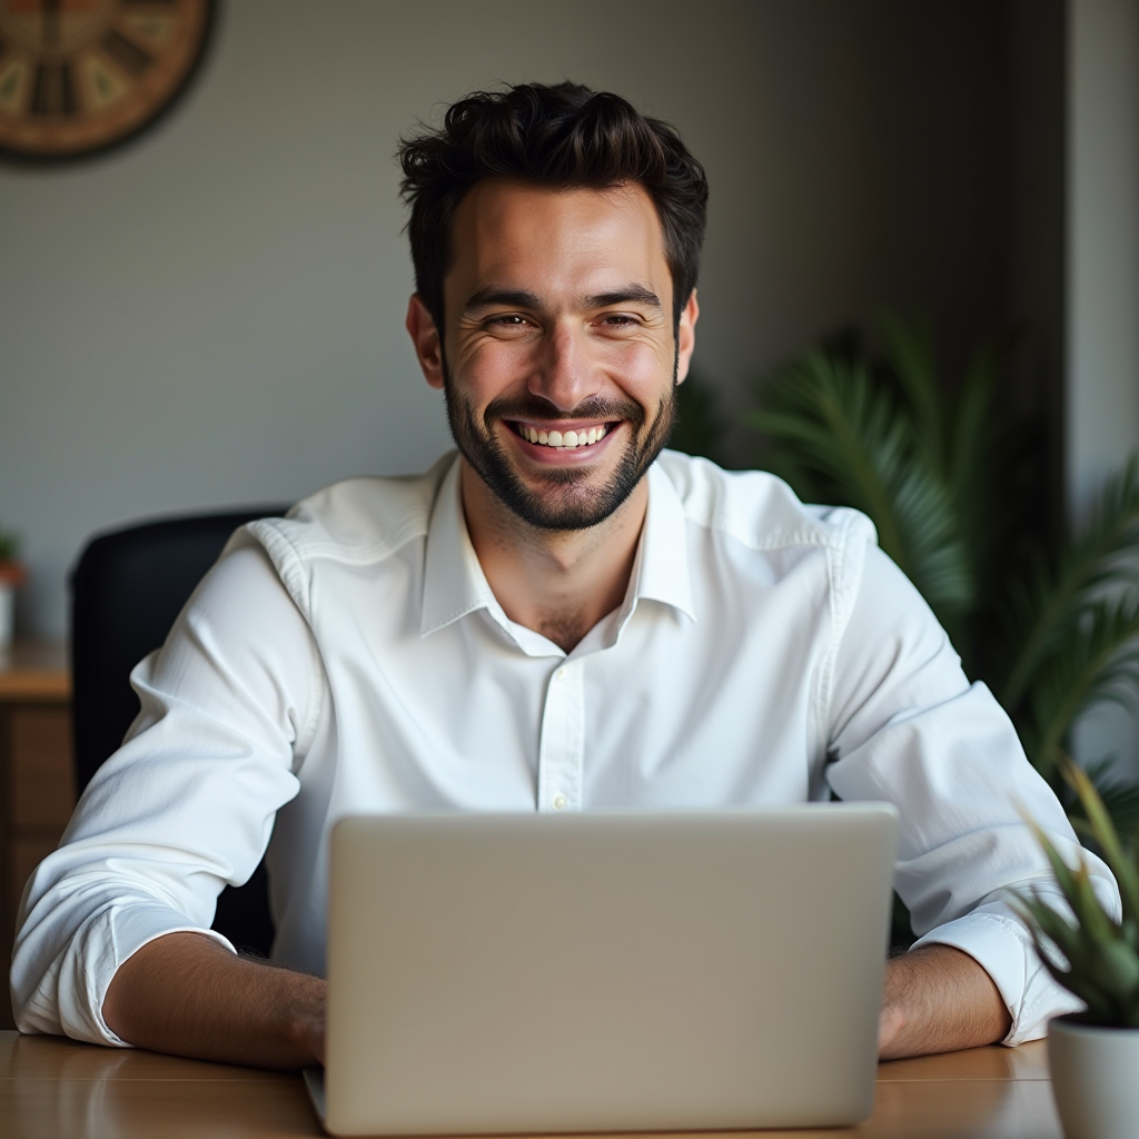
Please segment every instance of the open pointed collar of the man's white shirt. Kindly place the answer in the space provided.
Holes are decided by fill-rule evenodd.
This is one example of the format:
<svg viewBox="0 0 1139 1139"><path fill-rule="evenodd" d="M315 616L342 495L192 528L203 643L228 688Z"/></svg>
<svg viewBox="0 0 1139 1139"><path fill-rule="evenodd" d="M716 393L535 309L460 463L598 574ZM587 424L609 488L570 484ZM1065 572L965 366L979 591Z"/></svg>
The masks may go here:
<svg viewBox="0 0 1139 1139"><path fill-rule="evenodd" d="M630 589L618 626L632 615L641 598L662 601L693 621L691 579L685 507L672 480L653 464L648 470L648 509L641 532ZM491 591L462 515L459 458L443 476L427 526L424 601L419 634L426 637L476 609L489 609L505 624L506 613Z"/></svg>

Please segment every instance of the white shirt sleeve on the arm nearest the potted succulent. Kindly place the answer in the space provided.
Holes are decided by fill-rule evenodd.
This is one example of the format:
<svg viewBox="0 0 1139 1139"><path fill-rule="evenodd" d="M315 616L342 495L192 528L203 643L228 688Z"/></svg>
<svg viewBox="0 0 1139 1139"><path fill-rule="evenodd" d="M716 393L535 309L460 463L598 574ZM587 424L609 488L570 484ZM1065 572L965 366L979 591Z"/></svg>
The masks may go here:
<svg viewBox="0 0 1139 1139"><path fill-rule="evenodd" d="M1081 1005L1040 965L1009 906L1010 890L1032 887L1066 909L1021 812L1070 863L1088 861L1097 894L1118 916L1115 880L1082 850L1003 708L968 682L917 590L877 547L860 562L849 609L836 618L828 780L841 798L898 806L894 884L917 944L973 957L1011 1014L1005 1043L1035 1039L1050 1017Z"/></svg>

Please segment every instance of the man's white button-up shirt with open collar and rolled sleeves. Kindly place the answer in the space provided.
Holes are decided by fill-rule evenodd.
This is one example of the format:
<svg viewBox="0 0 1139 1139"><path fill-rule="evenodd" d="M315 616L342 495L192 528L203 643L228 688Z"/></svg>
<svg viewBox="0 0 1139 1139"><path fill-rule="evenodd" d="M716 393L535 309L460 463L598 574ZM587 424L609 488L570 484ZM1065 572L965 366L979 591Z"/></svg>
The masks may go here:
<svg viewBox="0 0 1139 1139"><path fill-rule="evenodd" d="M862 515L665 452L624 601L567 654L491 592L458 476L451 456L418 478L352 480L235 535L136 669L128 741L28 883L21 1029L122 1043L101 1013L116 968L207 928L267 846L273 958L322 974L327 839L345 814L831 792L896 804L916 931L989 970L1009 1042L1077 1007L1003 894L1051 888L1018 806L1073 859L1075 836Z"/></svg>

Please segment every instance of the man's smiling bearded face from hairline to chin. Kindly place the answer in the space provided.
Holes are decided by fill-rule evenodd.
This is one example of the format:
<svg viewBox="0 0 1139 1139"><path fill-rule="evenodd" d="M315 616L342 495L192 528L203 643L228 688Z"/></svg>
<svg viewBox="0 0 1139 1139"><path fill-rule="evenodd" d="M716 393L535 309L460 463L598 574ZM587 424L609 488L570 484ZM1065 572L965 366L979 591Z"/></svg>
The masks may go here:
<svg viewBox="0 0 1139 1139"><path fill-rule="evenodd" d="M459 449L531 525L597 525L667 441L691 355L652 199L486 180L452 248L439 363Z"/></svg>

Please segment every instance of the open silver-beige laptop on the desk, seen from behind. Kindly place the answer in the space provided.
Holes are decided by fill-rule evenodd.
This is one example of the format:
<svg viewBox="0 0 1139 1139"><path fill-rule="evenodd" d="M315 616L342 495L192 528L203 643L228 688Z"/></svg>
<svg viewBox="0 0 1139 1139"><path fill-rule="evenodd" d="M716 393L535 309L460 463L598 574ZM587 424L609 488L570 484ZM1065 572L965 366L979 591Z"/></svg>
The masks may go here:
<svg viewBox="0 0 1139 1139"><path fill-rule="evenodd" d="M338 1136L859 1123L895 836L886 804L344 819L318 1113Z"/></svg>

